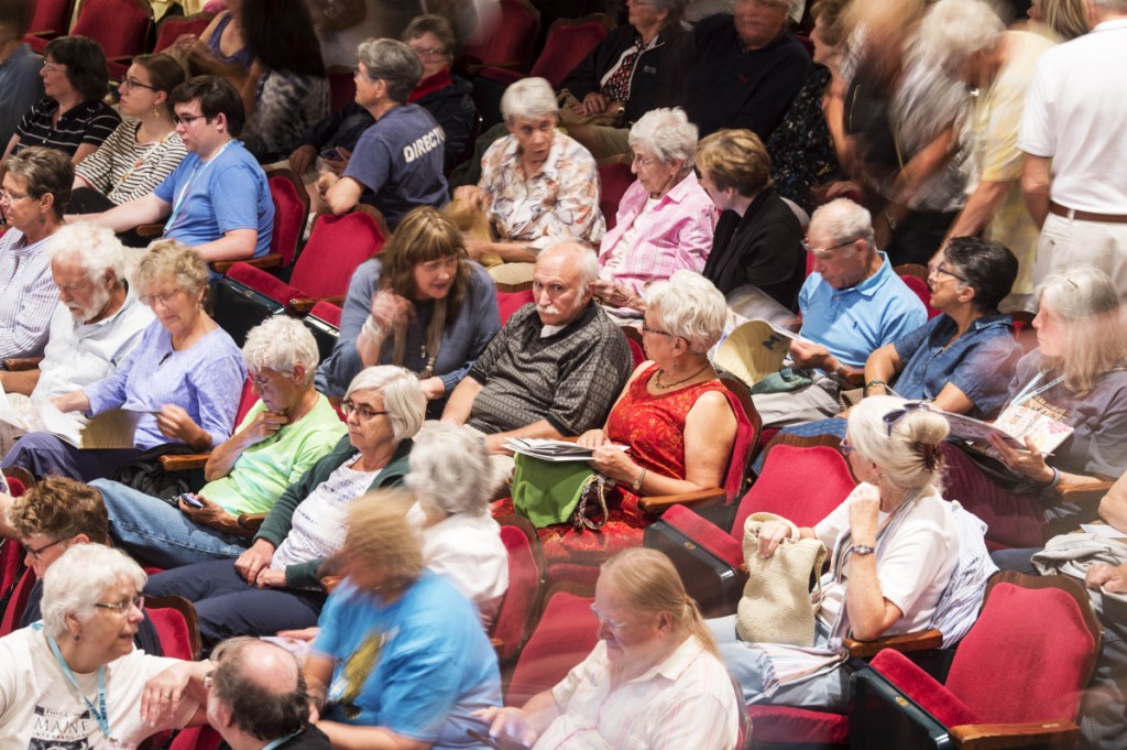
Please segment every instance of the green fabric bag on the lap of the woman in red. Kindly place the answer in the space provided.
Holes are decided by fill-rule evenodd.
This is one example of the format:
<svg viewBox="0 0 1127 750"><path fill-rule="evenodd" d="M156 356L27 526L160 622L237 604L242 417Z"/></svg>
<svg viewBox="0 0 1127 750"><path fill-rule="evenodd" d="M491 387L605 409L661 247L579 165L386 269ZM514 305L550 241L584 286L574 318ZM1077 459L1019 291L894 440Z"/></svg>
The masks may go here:
<svg viewBox="0 0 1127 750"><path fill-rule="evenodd" d="M571 523L589 480L597 475L585 461L544 461L523 453L515 456L513 508L542 529L553 523Z"/></svg>

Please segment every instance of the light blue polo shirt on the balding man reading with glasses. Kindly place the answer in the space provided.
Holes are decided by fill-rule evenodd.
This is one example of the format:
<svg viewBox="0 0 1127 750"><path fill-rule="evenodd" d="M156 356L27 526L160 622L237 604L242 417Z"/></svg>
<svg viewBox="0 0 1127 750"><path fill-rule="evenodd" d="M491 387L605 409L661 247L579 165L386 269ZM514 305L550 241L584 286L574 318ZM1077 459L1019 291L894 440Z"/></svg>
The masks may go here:
<svg viewBox="0 0 1127 750"><path fill-rule="evenodd" d="M928 310L880 254L880 270L849 289L834 289L811 273L798 293L801 334L842 364L864 367L875 350L928 321Z"/></svg>

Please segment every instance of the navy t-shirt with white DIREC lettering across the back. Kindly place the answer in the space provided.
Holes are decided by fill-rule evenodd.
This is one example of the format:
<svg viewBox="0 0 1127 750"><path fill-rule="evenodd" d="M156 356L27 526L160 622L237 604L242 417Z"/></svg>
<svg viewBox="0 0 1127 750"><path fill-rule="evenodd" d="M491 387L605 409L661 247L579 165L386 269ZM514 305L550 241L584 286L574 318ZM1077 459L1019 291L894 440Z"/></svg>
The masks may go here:
<svg viewBox="0 0 1127 750"><path fill-rule="evenodd" d="M378 208L394 230L415 206L446 204L445 140L423 107L394 107L360 136L344 176L364 186L363 202Z"/></svg>

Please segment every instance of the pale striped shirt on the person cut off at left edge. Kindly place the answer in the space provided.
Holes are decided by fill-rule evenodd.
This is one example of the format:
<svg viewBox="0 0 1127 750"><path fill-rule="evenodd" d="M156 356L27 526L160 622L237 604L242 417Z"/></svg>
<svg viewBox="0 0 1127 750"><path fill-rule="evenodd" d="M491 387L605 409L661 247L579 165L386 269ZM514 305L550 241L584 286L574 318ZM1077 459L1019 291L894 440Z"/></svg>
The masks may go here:
<svg viewBox="0 0 1127 750"><path fill-rule="evenodd" d="M47 343L59 289L44 247L52 236L27 245L24 232L0 237L0 356L38 356Z"/></svg>

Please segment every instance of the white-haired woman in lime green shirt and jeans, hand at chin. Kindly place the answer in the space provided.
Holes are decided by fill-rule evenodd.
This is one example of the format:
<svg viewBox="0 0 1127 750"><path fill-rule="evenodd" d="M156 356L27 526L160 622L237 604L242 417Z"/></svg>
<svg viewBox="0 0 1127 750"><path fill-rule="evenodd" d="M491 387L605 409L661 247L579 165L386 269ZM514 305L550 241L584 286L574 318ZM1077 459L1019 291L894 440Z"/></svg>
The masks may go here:
<svg viewBox="0 0 1127 750"><path fill-rule="evenodd" d="M242 360L259 399L204 467L207 484L176 504L109 479L92 484L109 511L114 541L145 565L168 568L241 555L242 513L266 513L344 436L329 399L313 390L317 342L278 316L247 335Z"/></svg>

